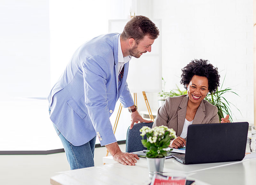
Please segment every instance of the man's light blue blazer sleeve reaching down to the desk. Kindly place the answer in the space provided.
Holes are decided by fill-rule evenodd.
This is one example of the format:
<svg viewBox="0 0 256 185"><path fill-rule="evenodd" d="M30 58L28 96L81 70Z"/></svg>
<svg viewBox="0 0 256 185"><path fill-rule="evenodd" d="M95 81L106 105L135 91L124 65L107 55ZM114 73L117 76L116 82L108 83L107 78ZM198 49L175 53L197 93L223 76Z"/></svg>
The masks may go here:
<svg viewBox="0 0 256 185"><path fill-rule="evenodd" d="M108 69L108 64L99 56L88 58L82 66L85 106L96 133L102 138L101 146L116 142L109 120L106 87Z"/></svg>

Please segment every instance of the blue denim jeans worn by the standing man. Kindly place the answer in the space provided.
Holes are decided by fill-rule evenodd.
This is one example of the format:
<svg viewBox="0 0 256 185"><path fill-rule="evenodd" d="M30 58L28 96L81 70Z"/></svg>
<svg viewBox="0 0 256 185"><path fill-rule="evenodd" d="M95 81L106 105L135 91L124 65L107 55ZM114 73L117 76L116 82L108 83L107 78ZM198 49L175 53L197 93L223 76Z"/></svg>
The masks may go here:
<svg viewBox="0 0 256 185"><path fill-rule="evenodd" d="M50 111L51 110L49 109L49 112ZM61 143L63 144L71 170L94 166L93 157L96 136L81 146L74 146L60 133L59 129L54 123L53 127L56 130L57 135L60 137Z"/></svg>

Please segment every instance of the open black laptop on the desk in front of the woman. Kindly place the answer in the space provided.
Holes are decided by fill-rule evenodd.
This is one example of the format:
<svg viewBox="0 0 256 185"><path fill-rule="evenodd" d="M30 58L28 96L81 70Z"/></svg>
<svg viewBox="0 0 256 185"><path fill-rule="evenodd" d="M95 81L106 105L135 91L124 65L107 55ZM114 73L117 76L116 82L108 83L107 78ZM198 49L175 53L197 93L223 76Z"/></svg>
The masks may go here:
<svg viewBox="0 0 256 185"><path fill-rule="evenodd" d="M248 122L189 125L186 153L173 157L182 164L242 160L248 126Z"/></svg>

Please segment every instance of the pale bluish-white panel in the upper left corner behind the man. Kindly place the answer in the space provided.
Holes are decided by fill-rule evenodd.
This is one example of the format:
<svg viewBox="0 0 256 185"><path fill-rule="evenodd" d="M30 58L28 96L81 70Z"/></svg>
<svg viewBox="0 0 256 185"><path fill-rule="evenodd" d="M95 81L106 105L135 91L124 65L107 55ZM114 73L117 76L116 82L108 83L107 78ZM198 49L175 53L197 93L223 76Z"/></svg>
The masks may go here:
<svg viewBox="0 0 256 185"><path fill-rule="evenodd" d="M1 0L1 97L38 97L48 93L49 44L48 0Z"/></svg>

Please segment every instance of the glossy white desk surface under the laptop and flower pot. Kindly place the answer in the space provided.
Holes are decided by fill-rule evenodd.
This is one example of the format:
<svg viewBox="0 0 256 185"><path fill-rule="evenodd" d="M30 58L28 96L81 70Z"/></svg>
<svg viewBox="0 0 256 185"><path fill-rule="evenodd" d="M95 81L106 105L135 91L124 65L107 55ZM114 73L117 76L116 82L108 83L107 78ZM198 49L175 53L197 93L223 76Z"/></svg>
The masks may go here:
<svg viewBox="0 0 256 185"><path fill-rule="evenodd" d="M175 159L166 159L164 174L186 176L195 180L196 185L251 185L255 184L256 159L236 162L183 165ZM124 184L148 185L148 166L146 159L140 159L135 166L120 163L106 164L62 172L51 178L52 185L84 184Z"/></svg>

